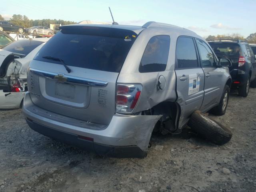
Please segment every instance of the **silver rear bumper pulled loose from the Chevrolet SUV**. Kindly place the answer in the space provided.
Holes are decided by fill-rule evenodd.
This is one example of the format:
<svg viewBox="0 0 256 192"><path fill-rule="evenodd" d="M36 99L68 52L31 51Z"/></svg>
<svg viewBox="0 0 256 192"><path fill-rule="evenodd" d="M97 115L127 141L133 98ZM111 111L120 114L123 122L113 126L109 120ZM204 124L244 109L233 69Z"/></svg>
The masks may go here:
<svg viewBox="0 0 256 192"><path fill-rule="evenodd" d="M161 117L115 114L104 128L86 128L72 124L72 118L34 105L28 92L23 102L23 113L30 128L45 136L114 157L146 156L152 130Z"/></svg>

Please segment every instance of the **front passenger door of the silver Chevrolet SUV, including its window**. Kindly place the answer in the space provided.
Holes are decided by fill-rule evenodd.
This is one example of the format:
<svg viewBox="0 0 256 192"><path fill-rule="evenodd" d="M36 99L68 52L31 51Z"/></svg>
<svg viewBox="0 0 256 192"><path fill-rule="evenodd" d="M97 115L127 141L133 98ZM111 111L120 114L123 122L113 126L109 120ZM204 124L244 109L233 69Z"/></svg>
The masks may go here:
<svg viewBox="0 0 256 192"><path fill-rule="evenodd" d="M206 110L212 105L219 103L222 95L222 82L224 73L217 68L217 59L212 50L203 40L196 39L200 64L204 71L204 101L201 110Z"/></svg>

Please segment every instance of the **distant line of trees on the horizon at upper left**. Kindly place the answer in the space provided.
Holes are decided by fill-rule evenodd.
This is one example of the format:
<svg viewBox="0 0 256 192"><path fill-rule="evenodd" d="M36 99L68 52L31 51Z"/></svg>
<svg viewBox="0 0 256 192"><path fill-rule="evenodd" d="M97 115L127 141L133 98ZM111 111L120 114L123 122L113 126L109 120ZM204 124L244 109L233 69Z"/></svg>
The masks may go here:
<svg viewBox="0 0 256 192"><path fill-rule="evenodd" d="M0 15L0 20L4 20L4 18ZM64 21L64 20L57 20L57 19L36 19L32 20L29 19L26 15L16 15L14 14L12 18L9 20L14 25L23 26L24 28L29 28L32 26L46 26L50 27L50 24L61 24L61 25L69 25L69 24L76 24L73 21Z"/></svg>

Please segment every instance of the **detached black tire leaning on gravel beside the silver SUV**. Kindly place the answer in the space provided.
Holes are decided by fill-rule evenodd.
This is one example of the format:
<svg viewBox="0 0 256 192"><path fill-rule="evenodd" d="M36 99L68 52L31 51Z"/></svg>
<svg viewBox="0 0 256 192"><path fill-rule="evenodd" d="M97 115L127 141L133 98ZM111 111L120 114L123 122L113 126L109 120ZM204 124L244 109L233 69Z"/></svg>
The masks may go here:
<svg viewBox="0 0 256 192"><path fill-rule="evenodd" d="M188 126L217 145L230 141L232 132L222 124L202 114L199 110L192 113Z"/></svg>

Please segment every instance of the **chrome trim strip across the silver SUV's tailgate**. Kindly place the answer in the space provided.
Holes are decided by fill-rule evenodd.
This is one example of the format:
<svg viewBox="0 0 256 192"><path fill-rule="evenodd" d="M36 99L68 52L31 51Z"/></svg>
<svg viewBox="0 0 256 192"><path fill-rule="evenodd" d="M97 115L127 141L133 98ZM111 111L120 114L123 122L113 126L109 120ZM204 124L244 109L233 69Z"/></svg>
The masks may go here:
<svg viewBox="0 0 256 192"><path fill-rule="evenodd" d="M49 79L53 79L53 80L56 80L55 76L63 75L63 74L38 70L38 69L34 69L34 68L29 68L29 70L36 75L43 76L45 78L49 78ZM69 75L65 75L65 74L63 75L63 77L67 78L67 80L65 82L73 83L73 84L80 84L80 85L86 85L86 86L92 86L92 87L106 87L108 85L108 82L106 82L106 81L74 77L74 76L69 76Z"/></svg>

